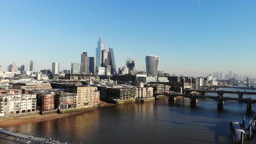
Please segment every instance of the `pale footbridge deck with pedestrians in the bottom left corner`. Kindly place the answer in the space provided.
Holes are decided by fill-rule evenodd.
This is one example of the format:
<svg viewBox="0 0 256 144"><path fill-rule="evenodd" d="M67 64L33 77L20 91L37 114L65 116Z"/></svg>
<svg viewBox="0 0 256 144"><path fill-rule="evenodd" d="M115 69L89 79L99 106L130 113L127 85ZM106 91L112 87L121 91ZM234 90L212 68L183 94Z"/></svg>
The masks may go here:
<svg viewBox="0 0 256 144"><path fill-rule="evenodd" d="M13 131L8 131L7 129L3 129L3 128L0 128L0 134L5 134L5 135L11 136L11 137L17 137L18 139L28 140L27 144L30 143L31 141L37 142L37 143L40 143L40 144L65 144L64 142L57 143L57 141L55 141L55 140L49 141L48 139L45 139L43 137L36 137L35 136L33 138L32 135L29 136L29 135L26 135L26 134L16 133L16 132L13 132Z"/></svg>

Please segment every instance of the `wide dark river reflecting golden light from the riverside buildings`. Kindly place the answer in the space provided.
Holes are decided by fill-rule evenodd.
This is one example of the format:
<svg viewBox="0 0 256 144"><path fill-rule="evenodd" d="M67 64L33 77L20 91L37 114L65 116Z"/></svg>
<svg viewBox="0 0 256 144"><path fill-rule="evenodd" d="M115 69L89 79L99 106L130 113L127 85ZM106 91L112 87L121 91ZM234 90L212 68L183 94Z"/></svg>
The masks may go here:
<svg viewBox="0 0 256 144"><path fill-rule="evenodd" d="M253 98L252 95L244 95L246 97ZM217 101L212 99L200 98L197 106L191 107L190 99L181 97L176 102L165 98L142 104L102 107L79 115L8 129L69 141L69 144L232 144L230 121L242 121L246 115L247 124L253 114L256 114L254 105L248 114L246 104L239 101L225 101L224 108L218 109ZM9 141L6 139L15 138L4 135L0 137L1 144L27 142ZM245 144L255 143L256 134L250 141L245 140Z"/></svg>

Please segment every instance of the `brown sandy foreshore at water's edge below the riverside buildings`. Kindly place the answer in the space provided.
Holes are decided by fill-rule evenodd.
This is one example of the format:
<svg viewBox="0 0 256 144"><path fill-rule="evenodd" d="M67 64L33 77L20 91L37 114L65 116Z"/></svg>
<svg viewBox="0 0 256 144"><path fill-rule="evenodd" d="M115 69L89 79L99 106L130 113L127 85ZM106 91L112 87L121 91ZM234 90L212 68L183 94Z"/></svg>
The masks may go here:
<svg viewBox="0 0 256 144"><path fill-rule="evenodd" d="M113 105L115 104L110 104L110 103L101 101L101 107L113 106ZM20 125L20 124L35 123L40 121L49 121L49 120L54 120L58 118L65 118L70 115L78 115L84 112L86 111L73 112L69 114L27 115L27 116L13 117L13 118L3 118L3 119L0 119L0 128L1 127L6 128L6 127Z"/></svg>

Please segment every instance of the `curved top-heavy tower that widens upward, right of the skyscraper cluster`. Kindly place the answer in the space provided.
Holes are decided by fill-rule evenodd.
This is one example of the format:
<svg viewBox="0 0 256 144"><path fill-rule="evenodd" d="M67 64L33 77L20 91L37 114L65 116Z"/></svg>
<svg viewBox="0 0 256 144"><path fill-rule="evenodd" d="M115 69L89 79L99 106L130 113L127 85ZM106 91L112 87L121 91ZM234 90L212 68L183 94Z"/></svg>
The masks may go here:
<svg viewBox="0 0 256 144"><path fill-rule="evenodd" d="M158 75L158 64L160 58L158 56L146 55L147 73L152 76Z"/></svg>

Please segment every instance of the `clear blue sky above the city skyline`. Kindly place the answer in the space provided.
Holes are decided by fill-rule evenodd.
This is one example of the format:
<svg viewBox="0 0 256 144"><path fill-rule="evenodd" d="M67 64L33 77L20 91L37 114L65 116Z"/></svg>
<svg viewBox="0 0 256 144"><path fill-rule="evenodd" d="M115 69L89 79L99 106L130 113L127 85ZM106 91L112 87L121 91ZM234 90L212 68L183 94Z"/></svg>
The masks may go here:
<svg viewBox="0 0 256 144"><path fill-rule="evenodd" d="M99 36L143 70L145 55L159 70L205 76L232 70L255 76L255 0L1 0L0 65L36 62L36 69L71 69Z"/></svg>

